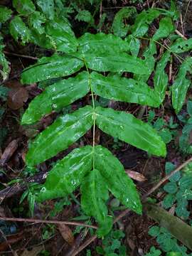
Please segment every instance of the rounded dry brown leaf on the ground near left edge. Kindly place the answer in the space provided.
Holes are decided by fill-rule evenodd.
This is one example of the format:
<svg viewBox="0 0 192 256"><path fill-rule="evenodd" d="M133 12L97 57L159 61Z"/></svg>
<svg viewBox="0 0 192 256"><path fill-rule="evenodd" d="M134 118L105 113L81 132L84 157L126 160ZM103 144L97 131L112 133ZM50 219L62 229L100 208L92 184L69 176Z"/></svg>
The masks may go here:
<svg viewBox="0 0 192 256"><path fill-rule="evenodd" d="M28 91L25 87L16 87L9 91L7 105L11 110L18 110L23 107L23 102L28 100Z"/></svg>

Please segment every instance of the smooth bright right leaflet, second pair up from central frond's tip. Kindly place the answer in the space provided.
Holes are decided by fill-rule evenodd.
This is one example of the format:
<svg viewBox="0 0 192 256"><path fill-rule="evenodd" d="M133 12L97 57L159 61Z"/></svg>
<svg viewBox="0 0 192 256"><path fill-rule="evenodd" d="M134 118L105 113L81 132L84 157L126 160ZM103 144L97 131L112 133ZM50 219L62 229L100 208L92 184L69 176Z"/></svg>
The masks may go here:
<svg viewBox="0 0 192 256"><path fill-rule="evenodd" d="M96 124L103 132L139 149L156 156L166 155L166 146L156 130L132 114L97 107Z"/></svg>

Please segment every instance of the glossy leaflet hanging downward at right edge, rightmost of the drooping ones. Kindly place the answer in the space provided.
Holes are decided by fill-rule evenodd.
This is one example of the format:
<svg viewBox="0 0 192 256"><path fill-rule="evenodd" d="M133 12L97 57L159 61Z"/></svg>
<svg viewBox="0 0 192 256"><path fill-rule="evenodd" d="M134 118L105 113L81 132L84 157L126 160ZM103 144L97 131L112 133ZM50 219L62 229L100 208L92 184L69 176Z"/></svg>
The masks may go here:
<svg viewBox="0 0 192 256"><path fill-rule="evenodd" d="M187 72L191 70L192 58L186 58L180 66L176 80L171 87L172 104L176 113L178 113L186 99L188 87L191 85L191 80L186 78Z"/></svg>

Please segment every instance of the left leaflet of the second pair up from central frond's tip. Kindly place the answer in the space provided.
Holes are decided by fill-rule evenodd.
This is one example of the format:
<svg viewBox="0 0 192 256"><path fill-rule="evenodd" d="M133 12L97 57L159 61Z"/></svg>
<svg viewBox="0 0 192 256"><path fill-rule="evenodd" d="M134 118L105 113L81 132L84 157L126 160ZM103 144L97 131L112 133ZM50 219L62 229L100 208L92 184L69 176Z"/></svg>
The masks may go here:
<svg viewBox="0 0 192 256"><path fill-rule="evenodd" d="M67 149L82 137L93 124L92 107L86 106L65 114L53 122L31 143L26 164L34 166Z"/></svg>

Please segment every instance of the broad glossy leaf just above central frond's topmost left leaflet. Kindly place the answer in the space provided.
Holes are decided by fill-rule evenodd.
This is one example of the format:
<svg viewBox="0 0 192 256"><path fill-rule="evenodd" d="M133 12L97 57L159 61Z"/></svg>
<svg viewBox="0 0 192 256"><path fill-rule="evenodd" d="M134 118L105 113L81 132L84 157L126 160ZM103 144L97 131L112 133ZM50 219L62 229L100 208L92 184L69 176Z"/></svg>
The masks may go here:
<svg viewBox="0 0 192 256"><path fill-rule="evenodd" d="M46 25L46 33L50 36L51 43L58 51L73 53L77 50L78 40L64 19L49 21Z"/></svg>

